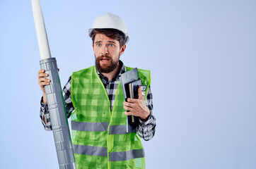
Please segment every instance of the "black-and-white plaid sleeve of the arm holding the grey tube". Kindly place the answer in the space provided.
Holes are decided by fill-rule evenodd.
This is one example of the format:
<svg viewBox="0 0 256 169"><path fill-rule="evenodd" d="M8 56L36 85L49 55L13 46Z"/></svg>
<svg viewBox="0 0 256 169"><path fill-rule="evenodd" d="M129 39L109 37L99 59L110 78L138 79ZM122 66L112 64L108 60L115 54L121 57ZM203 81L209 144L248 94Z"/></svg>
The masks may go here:
<svg viewBox="0 0 256 169"><path fill-rule="evenodd" d="M69 118L72 111L74 111L74 106L71 100L71 76L69 77L68 82L66 82L66 85L62 89L62 94L64 98L64 104L66 107L66 117ZM44 117L46 119L46 123L45 123ZM42 99L41 99L41 107L40 107L40 118L42 120L42 125L45 127L45 130L47 131L52 130L52 123L50 119L48 106L47 104L44 104L42 102Z"/></svg>

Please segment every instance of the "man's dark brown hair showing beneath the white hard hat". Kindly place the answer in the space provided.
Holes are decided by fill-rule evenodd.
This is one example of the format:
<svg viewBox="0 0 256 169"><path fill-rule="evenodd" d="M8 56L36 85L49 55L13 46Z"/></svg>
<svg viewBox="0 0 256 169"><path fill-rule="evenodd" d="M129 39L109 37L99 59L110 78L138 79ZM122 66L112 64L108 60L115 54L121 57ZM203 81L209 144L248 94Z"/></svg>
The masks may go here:
<svg viewBox="0 0 256 169"><path fill-rule="evenodd" d="M90 33L90 37L93 40L94 44L94 39L96 34L103 34L106 37L110 37L111 39L115 39L120 43L120 48L125 44L127 41L127 37L125 37L124 33L121 32L120 30L115 30L115 29L93 29Z"/></svg>

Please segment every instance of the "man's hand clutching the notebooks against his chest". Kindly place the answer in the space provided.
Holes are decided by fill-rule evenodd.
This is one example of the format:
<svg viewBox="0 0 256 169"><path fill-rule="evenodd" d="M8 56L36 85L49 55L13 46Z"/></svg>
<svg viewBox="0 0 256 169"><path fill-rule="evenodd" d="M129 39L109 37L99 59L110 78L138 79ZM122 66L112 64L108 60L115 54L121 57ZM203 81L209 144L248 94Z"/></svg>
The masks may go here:
<svg viewBox="0 0 256 169"><path fill-rule="evenodd" d="M141 120L146 120L146 118L149 117L150 111L149 108L146 106L146 103L143 99L142 93L141 93L141 87L138 89L138 95L139 99L130 99L128 98L127 101L124 101L124 109L129 111L125 111L124 114L126 115L135 115L141 118Z"/></svg>

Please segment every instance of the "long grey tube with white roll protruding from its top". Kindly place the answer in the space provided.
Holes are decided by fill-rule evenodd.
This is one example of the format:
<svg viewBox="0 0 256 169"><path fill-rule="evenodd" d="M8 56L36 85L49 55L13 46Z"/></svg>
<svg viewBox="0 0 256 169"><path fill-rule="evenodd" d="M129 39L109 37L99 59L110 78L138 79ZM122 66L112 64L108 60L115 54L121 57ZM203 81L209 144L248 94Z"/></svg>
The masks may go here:
<svg viewBox="0 0 256 169"><path fill-rule="evenodd" d="M31 0L37 42L40 50L40 66L49 74L50 84L45 86L48 109L52 123L52 132L57 151L60 169L76 169L74 151L71 142L69 123L66 118L66 108L62 96L62 87L59 81L57 61L51 57L45 23L42 16L40 0Z"/></svg>

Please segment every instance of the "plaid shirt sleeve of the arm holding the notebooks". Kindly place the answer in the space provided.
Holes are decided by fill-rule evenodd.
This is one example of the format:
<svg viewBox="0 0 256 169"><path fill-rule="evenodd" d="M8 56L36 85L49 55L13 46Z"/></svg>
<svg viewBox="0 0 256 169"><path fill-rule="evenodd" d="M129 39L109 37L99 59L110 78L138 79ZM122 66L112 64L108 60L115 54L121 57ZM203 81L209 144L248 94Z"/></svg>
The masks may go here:
<svg viewBox="0 0 256 169"><path fill-rule="evenodd" d="M146 106L149 108L150 115L145 121L139 118L139 126L136 127L136 132L139 134L139 137L148 141L153 138L156 130L156 118L153 114L153 96L150 85L148 95L146 96Z"/></svg>

